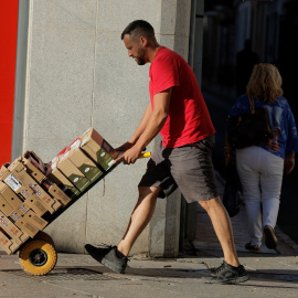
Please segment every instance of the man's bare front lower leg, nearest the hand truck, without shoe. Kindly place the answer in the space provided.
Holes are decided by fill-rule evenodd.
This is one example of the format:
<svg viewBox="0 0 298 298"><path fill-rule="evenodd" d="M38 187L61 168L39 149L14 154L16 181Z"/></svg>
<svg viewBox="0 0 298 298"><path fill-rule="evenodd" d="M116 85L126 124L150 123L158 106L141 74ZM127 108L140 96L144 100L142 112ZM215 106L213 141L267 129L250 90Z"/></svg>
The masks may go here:
<svg viewBox="0 0 298 298"><path fill-rule="evenodd" d="M160 188L139 187L139 199L131 214L127 231L117 249L128 256L134 243L150 222L156 209Z"/></svg>

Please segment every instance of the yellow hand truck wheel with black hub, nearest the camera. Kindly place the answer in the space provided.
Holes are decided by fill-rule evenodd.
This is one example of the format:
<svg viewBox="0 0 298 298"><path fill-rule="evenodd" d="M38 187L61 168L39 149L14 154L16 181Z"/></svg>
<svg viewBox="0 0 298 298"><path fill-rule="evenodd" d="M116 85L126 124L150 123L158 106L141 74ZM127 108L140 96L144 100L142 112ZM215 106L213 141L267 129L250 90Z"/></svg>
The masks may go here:
<svg viewBox="0 0 298 298"><path fill-rule="evenodd" d="M44 240L29 241L19 252L24 272L31 275L49 274L56 265L55 247Z"/></svg>

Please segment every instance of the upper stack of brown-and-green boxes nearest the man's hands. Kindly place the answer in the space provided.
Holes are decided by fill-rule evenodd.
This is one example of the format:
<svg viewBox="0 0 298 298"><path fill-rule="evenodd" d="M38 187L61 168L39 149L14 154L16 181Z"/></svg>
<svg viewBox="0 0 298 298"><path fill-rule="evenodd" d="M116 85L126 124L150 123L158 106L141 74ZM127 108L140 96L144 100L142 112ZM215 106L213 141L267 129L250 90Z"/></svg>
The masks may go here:
<svg viewBox="0 0 298 298"><path fill-rule="evenodd" d="M110 169L117 156L118 152L89 128L47 163L46 175L60 181L71 198L77 196Z"/></svg>

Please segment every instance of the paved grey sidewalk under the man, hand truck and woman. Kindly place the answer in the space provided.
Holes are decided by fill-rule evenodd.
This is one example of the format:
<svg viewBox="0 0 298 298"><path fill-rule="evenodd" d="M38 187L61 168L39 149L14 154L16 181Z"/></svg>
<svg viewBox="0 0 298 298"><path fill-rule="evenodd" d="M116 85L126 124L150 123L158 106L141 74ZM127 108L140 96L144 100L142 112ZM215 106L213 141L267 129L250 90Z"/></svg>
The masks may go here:
<svg viewBox="0 0 298 298"><path fill-rule="evenodd" d="M219 178L220 193L223 184ZM240 285L207 285L207 266L219 266L223 254L206 213L198 205L195 251L175 259L132 257L125 275L118 275L88 255L58 254L47 276L25 274L18 255L0 251L0 297L297 297L298 260L294 244L277 227L278 251L248 253L244 210L232 219L236 249L251 279ZM187 249L185 249L187 252Z"/></svg>

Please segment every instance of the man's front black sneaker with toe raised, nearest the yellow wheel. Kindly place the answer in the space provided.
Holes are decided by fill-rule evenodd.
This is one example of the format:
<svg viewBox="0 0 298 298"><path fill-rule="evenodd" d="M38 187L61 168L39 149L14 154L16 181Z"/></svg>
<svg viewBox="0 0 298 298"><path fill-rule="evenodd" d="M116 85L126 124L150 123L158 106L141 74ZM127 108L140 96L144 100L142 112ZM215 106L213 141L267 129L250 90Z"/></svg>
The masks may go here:
<svg viewBox="0 0 298 298"><path fill-rule="evenodd" d="M110 268L111 270L124 274L129 260L125 255L117 251L117 246L97 248L91 244L85 245L87 253L97 262Z"/></svg>

